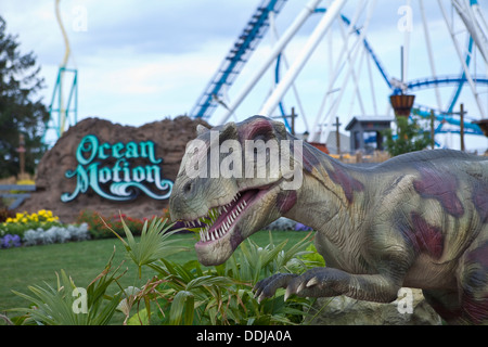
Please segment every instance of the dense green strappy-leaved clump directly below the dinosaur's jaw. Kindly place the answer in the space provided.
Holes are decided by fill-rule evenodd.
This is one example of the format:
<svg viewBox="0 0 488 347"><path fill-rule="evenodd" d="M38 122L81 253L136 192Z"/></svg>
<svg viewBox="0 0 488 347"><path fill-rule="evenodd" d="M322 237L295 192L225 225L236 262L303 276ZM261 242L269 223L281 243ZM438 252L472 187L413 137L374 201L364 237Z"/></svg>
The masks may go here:
<svg viewBox="0 0 488 347"><path fill-rule="evenodd" d="M259 247L252 241L223 265L202 269L195 261L178 265L159 259L149 265L164 279L160 288L163 323L168 324L283 324L299 323L310 301L283 300L284 291L258 303L254 284L275 272L301 272L311 262L301 260L309 237L284 250L286 241Z"/></svg>

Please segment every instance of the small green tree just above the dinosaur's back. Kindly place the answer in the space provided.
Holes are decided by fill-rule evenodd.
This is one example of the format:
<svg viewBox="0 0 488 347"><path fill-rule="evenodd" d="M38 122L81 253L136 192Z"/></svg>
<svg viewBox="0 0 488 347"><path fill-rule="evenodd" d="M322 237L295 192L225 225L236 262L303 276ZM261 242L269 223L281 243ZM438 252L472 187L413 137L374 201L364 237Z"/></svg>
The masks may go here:
<svg viewBox="0 0 488 347"><path fill-rule="evenodd" d="M403 153L421 151L431 143L431 136L424 131L416 118L412 117L409 123L408 117L397 117L397 133L391 129L385 130L385 150L391 156Z"/></svg>

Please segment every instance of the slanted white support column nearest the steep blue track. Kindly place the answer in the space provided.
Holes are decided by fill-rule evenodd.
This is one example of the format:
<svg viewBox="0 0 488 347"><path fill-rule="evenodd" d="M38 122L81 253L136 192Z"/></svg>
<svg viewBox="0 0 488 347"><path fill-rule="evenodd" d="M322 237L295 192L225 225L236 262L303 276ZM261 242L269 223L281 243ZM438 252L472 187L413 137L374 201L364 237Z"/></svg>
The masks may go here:
<svg viewBox="0 0 488 347"><path fill-rule="evenodd" d="M283 51L283 49L288 43L288 41L292 39L292 37L301 27L301 25L310 16L310 14L313 13L313 11L318 7L319 2L320 2L320 0L310 0L305 5L305 8L300 11L298 16L292 23L292 25L286 29L286 31L283 34L283 36L280 38L280 40L277 42L277 44L274 44L271 53L262 62L261 66L258 69L256 69L255 74L249 78L249 80L244 86L244 88L241 90L241 92L235 97L233 102L229 105L228 112L223 115L223 117L217 124L224 124L229 119L229 117L232 115L232 113L235 111L235 108L237 108L237 106L241 104L241 102L244 100L244 98L249 93L249 91L253 89L253 87L261 78L262 74L265 74L265 72L273 63L273 61L277 59L278 54L280 54L280 52Z"/></svg>

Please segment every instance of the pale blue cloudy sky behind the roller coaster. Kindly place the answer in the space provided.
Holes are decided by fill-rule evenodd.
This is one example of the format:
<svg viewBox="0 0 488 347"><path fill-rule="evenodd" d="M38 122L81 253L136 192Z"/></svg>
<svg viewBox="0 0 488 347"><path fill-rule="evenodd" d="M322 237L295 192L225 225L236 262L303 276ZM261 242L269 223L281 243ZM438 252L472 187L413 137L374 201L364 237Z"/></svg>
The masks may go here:
<svg viewBox="0 0 488 347"><path fill-rule="evenodd" d="M332 0L323 0L320 7L329 7ZM464 1L464 0L463 0ZM66 29L70 56L67 67L78 70L78 120L100 117L123 125L140 126L166 117L190 114L210 78L233 47L244 26L262 0L61 0L61 15ZM275 31L282 35L308 1L287 0L275 17ZM358 16L358 27L367 29L367 39L389 77L400 79L400 47L404 47L406 80L433 76L428 61L425 31L419 0L348 0L342 13L349 20ZM452 10L450 1L440 1L457 29L457 39L464 50L466 31ZM435 69L440 75L459 75L462 65L437 1L424 0L428 36L434 52ZM411 17L404 9L411 10ZM358 8L360 9L358 11ZM488 4L480 1L485 18ZM46 88L40 95L49 105L57 69L63 61L65 44L55 18L54 0L2 0L0 15L7 22L9 34L17 35L21 51L34 51L41 67ZM368 22L368 13L371 20ZM285 49L290 64L301 52L323 14L311 15ZM411 18L411 26L404 22ZM402 26L403 25L403 26ZM257 49L244 65L234 83L227 91L229 103L246 85L270 54L275 41L271 30L261 39ZM346 34L347 35L347 34ZM349 35L348 44L355 42ZM349 59L355 70L346 80L348 64L339 52L343 48L339 21L326 33L321 43L295 79L295 97L290 89L283 99L287 112L295 107L299 114L297 132L308 130L317 118L335 114L345 125L355 115L393 115L388 97L391 93L371 56L360 51ZM464 54L464 52L463 52ZM346 63L344 63L346 61ZM475 63L474 63L475 62ZM273 65L274 67L274 65ZM330 83L332 76L339 77ZM371 70L371 79L370 79ZM481 54L475 51L471 70L488 75ZM286 74L282 64L281 78ZM357 83L355 83L355 77ZM254 86L229 120L242 120L257 114L272 92L274 74L267 72ZM326 91L324 107L321 104ZM357 98L356 86L360 91ZM439 89L441 104L447 105L455 87ZM341 91L344 90L344 93ZM488 117L488 88L477 87L481 110ZM335 107L334 100L338 100ZM415 92L415 102L437 108L433 89ZM480 119L479 107L471 89L465 86L460 98L467 116ZM300 106L301 105L301 106ZM362 105L362 106L361 106ZM459 110L459 104L454 107ZM217 108L210 125L217 125L226 114ZM278 115L278 111L275 112ZM320 117L319 117L320 116ZM331 119L335 120L332 115ZM329 121L330 123L330 121ZM320 123L321 124L321 123ZM439 136L441 145L457 147L455 134ZM468 137L470 150L488 147L485 137Z"/></svg>

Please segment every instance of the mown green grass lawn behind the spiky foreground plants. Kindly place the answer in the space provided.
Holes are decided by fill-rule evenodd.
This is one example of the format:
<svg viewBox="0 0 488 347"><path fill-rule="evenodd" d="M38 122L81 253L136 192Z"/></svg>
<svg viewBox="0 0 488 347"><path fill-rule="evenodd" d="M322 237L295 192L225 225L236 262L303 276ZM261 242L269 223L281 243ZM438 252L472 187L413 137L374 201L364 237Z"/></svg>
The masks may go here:
<svg viewBox="0 0 488 347"><path fill-rule="evenodd" d="M275 244L288 239L287 246L294 245L306 235L306 232L295 231L274 231L272 233ZM177 234L171 237L180 237L181 244L188 246L189 252L176 254L168 257L169 259L180 264L196 259L193 249L195 239L192 234ZM258 232L252 239L258 245L266 246L269 244L269 232ZM126 259L124 246L117 239L1 249L0 312L9 308L28 306L29 303L13 294L12 290L30 295L28 285L46 287L46 282L55 287L55 272L61 269L72 277L77 286L86 287L104 269L114 245L116 253L113 265L116 267ZM140 286L153 275L150 269L143 268L142 279L139 280L137 267L129 259L126 259L121 269L126 268L128 271L120 279L124 287Z"/></svg>

